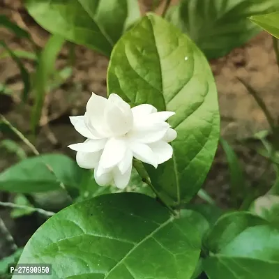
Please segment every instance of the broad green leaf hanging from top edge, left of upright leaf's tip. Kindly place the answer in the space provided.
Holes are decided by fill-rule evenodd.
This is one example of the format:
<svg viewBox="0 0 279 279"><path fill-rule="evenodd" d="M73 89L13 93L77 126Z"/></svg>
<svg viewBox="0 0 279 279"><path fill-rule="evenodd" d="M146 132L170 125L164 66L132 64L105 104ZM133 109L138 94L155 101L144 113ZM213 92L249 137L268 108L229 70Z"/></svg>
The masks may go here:
<svg viewBox="0 0 279 279"><path fill-rule="evenodd" d="M138 17L136 0L27 0L43 28L110 56L112 46Z"/></svg>

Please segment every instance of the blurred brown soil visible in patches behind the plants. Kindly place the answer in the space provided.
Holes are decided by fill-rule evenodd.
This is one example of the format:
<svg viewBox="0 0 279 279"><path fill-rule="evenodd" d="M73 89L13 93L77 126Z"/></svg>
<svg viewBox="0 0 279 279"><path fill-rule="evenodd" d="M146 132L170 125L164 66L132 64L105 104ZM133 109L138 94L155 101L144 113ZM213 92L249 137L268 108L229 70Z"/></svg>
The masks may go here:
<svg viewBox="0 0 279 279"><path fill-rule="evenodd" d="M8 15L22 28L29 30L38 45L42 47L45 45L48 33L33 22L22 8L20 1L0 0L0 4L1 13ZM142 6L142 10L144 10L144 6ZM31 50L31 45L27 41L15 38L5 29L0 29L0 40L5 40L13 50ZM65 45L59 54L56 68L63 68L67 65L68 51L69 44ZM50 130L56 140L53 140L49 130L41 129L36 146L42 153L59 151L73 156L66 146L77 142L80 137L69 125L68 116L84 111L84 105L91 91L103 96L106 94L107 58L82 46L75 47L75 56L73 75L59 89L48 94L47 118L53 119L50 121ZM29 61L24 63L29 70L34 69L33 63ZM260 33L243 47L236 48L225 57L211 61L211 68L218 87L222 116L221 134L232 142L235 138L247 137L258 130L268 128L264 114L237 77L241 77L251 84L259 92L274 116L278 116L276 108L279 104L277 96L279 75L271 36L264 32ZM0 82L3 83L7 80L11 89L20 92L23 86L20 72L15 63L8 58L0 60ZM1 98L0 103L1 112L7 119L28 135L31 103L27 107L22 107L18 102L17 94L12 100ZM41 120L45 121L45 119ZM234 144L234 147L246 170L248 181L254 181L255 176L264 168L264 160L242 146ZM1 156L0 169L8 167L14 159ZM228 189L227 163L223 151L218 149L216 160L206 180L206 190L211 193L218 204L227 207L229 204Z"/></svg>

